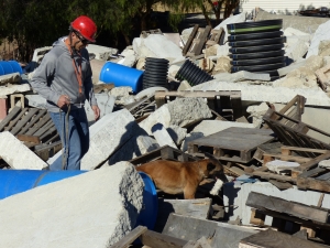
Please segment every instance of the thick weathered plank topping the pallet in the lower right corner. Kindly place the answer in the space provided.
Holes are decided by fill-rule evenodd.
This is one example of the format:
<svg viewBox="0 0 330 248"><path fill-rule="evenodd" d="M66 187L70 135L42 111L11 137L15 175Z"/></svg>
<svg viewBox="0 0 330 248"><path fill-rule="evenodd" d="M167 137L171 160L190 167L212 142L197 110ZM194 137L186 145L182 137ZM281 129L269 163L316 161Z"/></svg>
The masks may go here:
<svg viewBox="0 0 330 248"><path fill-rule="evenodd" d="M279 197L267 196L256 192L251 192L249 194L246 205L257 209L267 209L323 224L328 222L329 216L328 209L289 202Z"/></svg>

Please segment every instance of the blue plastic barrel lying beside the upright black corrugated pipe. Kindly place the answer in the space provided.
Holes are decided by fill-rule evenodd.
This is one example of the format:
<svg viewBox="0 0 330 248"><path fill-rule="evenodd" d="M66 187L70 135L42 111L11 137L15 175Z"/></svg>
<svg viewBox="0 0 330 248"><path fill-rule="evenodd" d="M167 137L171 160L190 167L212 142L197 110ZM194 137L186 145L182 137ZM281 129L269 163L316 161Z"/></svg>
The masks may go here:
<svg viewBox="0 0 330 248"><path fill-rule="evenodd" d="M114 84L116 87L130 86L136 94L142 89L143 73L140 69L107 62L100 72L100 80L106 84Z"/></svg>

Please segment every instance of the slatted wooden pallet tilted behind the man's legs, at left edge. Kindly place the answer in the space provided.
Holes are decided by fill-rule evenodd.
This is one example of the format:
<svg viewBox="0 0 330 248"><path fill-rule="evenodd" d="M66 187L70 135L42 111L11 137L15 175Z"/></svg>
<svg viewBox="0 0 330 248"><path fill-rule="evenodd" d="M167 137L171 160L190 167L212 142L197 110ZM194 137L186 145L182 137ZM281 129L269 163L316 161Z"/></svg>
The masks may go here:
<svg viewBox="0 0 330 248"><path fill-rule="evenodd" d="M47 160L62 149L59 136L45 109L14 107L0 122L0 132L9 131L24 144Z"/></svg>

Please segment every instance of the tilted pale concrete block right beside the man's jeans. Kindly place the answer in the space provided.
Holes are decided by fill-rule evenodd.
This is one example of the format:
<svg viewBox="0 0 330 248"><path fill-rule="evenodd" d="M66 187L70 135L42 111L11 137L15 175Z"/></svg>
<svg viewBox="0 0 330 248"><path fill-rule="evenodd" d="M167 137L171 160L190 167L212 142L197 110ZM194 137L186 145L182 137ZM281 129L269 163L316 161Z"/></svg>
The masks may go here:
<svg viewBox="0 0 330 248"><path fill-rule="evenodd" d="M127 109L103 116L90 126L90 145L81 160L81 170L94 170L131 137L135 134L139 126L134 117Z"/></svg>

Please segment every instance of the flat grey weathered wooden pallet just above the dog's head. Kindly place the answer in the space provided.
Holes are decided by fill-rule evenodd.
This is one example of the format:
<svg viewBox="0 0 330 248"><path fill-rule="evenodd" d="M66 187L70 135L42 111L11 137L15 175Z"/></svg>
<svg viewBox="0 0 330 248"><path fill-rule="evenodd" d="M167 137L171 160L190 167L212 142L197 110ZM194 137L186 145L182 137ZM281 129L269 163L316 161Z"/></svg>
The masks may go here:
<svg viewBox="0 0 330 248"><path fill-rule="evenodd" d="M188 143L188 153L208 149L219 160L249 163L260 144L271 142L272 130L252 128L228 128ZM229 155L229 157L226 157Z"/></svg>

